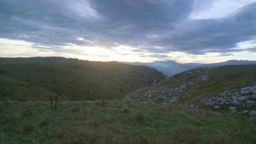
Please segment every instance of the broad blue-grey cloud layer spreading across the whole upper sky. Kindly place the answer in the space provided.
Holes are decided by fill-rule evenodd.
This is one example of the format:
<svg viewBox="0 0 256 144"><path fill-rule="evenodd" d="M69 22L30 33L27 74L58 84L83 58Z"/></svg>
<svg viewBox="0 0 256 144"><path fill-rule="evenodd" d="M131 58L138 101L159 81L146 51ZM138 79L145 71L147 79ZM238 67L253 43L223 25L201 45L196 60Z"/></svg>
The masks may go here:
<svg viewBox="0 0 256 144"><path fill-rule="evenodd" d="M256 3L222 19L188 19L193 11L200 11L211 2L195 5L193 0L2 0L0 38L42 44L54 49L34 48L59 52L74 52L60 47L68 44L109 47L114 43L151 53L242 51L232 48L256 36Z"/></svg>

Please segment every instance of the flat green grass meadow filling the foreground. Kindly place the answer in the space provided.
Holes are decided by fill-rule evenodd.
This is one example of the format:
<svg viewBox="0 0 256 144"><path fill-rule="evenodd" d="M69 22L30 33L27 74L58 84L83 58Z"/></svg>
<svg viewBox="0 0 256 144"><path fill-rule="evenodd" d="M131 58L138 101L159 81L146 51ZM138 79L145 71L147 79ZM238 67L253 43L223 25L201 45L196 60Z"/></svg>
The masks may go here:
<svg viewBox="0 0 256 144"><path fill-rule="evenodd" d="M256 119L155 103L0 103L0 143L256 143Z"/></svg>

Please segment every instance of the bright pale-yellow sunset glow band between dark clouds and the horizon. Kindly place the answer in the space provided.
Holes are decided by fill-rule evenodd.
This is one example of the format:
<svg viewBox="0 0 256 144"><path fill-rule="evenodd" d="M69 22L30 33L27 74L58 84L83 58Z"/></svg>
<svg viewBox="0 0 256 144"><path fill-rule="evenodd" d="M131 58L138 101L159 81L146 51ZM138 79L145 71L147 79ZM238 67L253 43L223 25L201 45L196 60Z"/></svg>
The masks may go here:
<svg viewBox="0 0 256 144"><path fill-rule="evenodd" d="M77 38L85 40L84 38ZM86 40L88 41L88 40ZM0 38L0 57L33 57L33 56L62 56L67 58L79 58L89 61L119 61L119 62L153 62L153 61L176 61L179 63L215 63L228 61L229 59L248 59L255 60L254 52L246 50L256 47L256 40L243 41L237 44L235 49L245 49L243 52L230 52L227 55L221 56L222 53L205 53L204 55L192 55L184 52L170 53L152 53L152 52L137 52L140 47L131 47L121 44L116 44L114 47L104 47L94 43L92 46L81 46L76 44L66 44L59 46L56 51L55 46L47 46L29 43L23 40L10 40ZM91 41L93 43L93 41ZM33 46L48 48L47 50L36 49ZM159 47L161 49L161 47ZM54 51L55 50L55 51ZM73 50L77 52L65 52L63 50ZM166 55L165 58L152 57L152 55Z"/></svg>

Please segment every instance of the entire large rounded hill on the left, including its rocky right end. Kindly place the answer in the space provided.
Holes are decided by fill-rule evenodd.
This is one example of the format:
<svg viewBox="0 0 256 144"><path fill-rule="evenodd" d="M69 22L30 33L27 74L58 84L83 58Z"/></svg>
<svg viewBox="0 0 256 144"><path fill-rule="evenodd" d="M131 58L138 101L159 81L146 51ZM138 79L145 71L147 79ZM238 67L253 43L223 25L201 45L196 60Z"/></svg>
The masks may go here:
<svg viewBox="0 0 256 144"><path fill-rule="evenodd" d="M121 99L165 79L158 70L145 66L63 57L0 58L0 74L70 100Z"/></svg>

